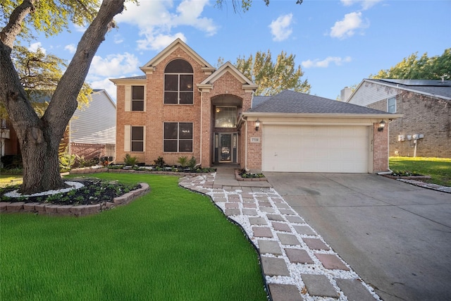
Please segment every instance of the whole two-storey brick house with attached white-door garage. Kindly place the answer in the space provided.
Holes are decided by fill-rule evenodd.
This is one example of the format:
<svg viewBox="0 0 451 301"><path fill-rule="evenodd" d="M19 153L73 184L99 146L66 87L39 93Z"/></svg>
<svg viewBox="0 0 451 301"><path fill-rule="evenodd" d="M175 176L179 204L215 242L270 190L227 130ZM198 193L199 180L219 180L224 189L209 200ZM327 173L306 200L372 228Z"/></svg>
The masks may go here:
<svg viewBox="0 0 451 301"><path fill-rule="evenodd" d="M399 116L285 90L257 89L230 62L216 70L176 39L117 86L116 161L153 164L194 156L251 171L374 173L388 170L388 130ZM252 105L254 102L254 106Z"/></svg>

